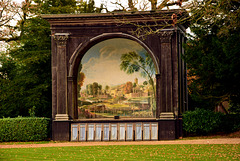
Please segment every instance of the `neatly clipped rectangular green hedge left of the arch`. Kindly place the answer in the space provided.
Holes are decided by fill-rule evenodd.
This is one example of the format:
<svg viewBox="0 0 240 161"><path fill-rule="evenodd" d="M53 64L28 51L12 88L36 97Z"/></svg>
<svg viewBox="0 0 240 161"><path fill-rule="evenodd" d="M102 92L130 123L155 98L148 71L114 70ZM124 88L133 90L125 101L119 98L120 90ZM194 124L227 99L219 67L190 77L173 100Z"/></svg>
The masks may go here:
<svg viewBox="0 0 240 161"><path fill-rule="evenodd" d="M49 134L50 119L17 117L0 119L0 141L40 141Z"/></svg>

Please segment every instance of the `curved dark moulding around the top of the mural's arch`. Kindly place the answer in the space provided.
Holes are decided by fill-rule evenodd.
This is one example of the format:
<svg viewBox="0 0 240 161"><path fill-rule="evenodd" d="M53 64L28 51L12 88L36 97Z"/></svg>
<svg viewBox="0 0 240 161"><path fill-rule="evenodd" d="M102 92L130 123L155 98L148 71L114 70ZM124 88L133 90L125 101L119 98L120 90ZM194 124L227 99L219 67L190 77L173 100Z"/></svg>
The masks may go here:
<svg viewBox="0 0 240 161"><path fill-rule="evenodd" d="M76 68L78 68L78 65L79 65L79 62L77 61L77 59L80 57L80 55L82 55L81 53L85 54L94 45L96 45L104 40L114 39L114 38L129 39L129 40L135 41L138 44L140 44L147 51L147 53L150 54L150 56L153 60L153 63L155 65L156 74L160 73L158 60L157 60L155 54L153 53L152 50L150 50L150 48L144 42L142 42L141 40L139 40L138 38L136 38L130 34L116 32L116 33L103 33L103 34L100 34L98 36L91 38L88 42L80 43L78 45L78 47L75 49L75 51L73 52L73 54L69 60L70 69L69 69L68 76L74 77L77 74L74 72L77 71Z"/></svg>

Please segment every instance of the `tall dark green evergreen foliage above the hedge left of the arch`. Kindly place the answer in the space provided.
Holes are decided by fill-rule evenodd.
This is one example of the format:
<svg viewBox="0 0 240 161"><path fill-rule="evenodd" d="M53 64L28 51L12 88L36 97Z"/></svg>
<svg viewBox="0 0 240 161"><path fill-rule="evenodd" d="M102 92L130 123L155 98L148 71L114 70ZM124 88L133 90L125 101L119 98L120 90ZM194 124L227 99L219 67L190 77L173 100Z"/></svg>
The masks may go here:
<svg viewBox="0 0 240 161"><path fill-rule="evenodd" d="M25 22L20 43L0 56L0 116L51 116L51 45L49 24L36 17Z"/></svg>

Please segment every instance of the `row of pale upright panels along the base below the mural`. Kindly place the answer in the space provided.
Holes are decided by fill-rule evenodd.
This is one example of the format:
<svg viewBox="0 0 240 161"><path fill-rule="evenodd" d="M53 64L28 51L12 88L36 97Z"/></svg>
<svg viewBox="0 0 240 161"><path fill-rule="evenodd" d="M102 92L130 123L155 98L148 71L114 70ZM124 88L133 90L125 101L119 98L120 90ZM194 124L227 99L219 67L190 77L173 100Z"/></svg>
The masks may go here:
<svg viewBox="0 0 240 161"><path fill-rule="evenodd" d="M158 123L73 123L71 141L158 140Z"/></svg>

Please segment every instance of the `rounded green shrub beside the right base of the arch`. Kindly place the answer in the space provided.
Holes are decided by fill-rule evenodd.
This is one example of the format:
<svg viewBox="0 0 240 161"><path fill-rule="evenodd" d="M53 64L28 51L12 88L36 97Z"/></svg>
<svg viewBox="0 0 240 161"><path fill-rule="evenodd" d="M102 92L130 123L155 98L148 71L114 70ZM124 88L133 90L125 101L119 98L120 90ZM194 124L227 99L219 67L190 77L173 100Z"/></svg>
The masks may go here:
<svg viewBox="0 0 240 161"><path fill-rule="evenodd" d="M183 130L197 135L218 132L223 116L222 113L199 108L187 111L183 114Z"/></svg>

